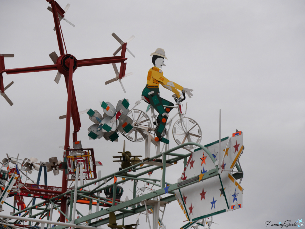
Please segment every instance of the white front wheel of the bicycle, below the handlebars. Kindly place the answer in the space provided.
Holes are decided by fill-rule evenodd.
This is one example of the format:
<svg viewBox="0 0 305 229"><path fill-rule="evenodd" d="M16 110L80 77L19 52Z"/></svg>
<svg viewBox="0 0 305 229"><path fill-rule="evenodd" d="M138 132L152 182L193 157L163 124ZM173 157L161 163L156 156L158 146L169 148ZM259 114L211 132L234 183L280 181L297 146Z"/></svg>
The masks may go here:
<svg viewBox="0 0 305 229"><path fill-rule="evenodd" d="M188 142L200 143L202 138L198 123L191 118L180 118L173 126L173 137L178 145ZM195 145L185 146L187 149L195 148Z"/></svg>

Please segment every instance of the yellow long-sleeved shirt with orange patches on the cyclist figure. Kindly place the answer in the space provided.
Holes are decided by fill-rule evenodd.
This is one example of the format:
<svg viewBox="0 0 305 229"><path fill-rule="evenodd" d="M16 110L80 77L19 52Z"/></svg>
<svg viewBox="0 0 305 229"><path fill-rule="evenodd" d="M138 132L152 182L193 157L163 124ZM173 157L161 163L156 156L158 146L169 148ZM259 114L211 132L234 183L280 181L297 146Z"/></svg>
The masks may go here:
<svg viewBox="0 0 305 229"><path fill-rule="evenodd" d="M149 69L147 74L147 87L148 88L159 88L161 84L164 88L167 88L170 91L173 91L177 97L180 97L179 91L183 90L183 87L175 82L169 81L163 76L163 72L160 68L152 67ZM178 89L178 90L177 90Z"/></svg>

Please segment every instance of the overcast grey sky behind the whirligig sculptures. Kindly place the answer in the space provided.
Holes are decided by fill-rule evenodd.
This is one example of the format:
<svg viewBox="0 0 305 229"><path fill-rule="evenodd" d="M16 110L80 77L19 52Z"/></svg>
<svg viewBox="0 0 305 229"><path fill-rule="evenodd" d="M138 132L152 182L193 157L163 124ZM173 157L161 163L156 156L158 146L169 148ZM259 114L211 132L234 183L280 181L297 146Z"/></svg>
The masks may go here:
<svg viewBox="0 0 305 229"><path fill-rule="evenodd" d="M202 131L202 145L218 139L219 109L222 110L221 137L236 129L244 132L245 150L240 158L244 179L243 208L214 216L212 228L264 228L264 222L305 219L304 150L305 131L305 2L291 1L67 1L71 6L61 27L67 52L77 59L112 56L119 43L135 35L127 47L124 94L111 65L80 67L73 74L79 110L97 109L100 101L114 106L128 98L131 105L141 98L150 54L165 50L168 60L164 76L183 87L192 88L188 117ZM0 2L0 53L15 54L5 59L5 68L52 64L49 54L59 49L53 31L52 13L43 0ZM66 113L66 85L54 82L56 71L3 74L11 107L0 98L0 153L36 157L47 161L62 157ZM170 91L160 88L163 98ZM146 105L141 104L140 109ZM104 166L102 174L113 173L119 164L112 156L123 149L118 142L88 140L91 121L81 115L78 140L94 148L95 158ZM72 140L71 140L72 141ZM171 147L176 146L172 138ZM72 145L72 144L71 144ZM144 145L126 142L127 150L144 156ZM179 150L180 153L187 153ZM2 159L1 159L2 160ZM179 167L180 166L180 167ZM174 166L173 166L174 167ZM169 182L177 182L183 165L178 163ZM34 174L34 172L33 172ZM157 174L157 173L156 173ZM59 179L48 174L49 183ZM155 175L156 176L156 175ZM156 177L159 178L160 177ZM34 175L34 178L35 175ZM61 175L60 175L61 179ZM127 185L127 184L126 184ZM124 187L123 199L132 193ZM180 228L185 216L178 202L165 211L167 228ZM131 221L135 217L131 216ZM145 225L145 218L140 221ZM143 226L142 226L143 225ZM269 226L270 227L270 226Z"/></svg>

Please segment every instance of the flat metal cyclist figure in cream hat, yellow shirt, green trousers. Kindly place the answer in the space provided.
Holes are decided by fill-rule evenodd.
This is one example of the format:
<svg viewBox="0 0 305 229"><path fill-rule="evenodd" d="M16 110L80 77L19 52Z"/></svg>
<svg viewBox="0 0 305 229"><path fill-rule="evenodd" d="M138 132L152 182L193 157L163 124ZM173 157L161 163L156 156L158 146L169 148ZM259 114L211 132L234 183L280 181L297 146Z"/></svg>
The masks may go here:
<svg viewBox="0 0 305 229"><path fill-rule="evenodd" d="M157 48L156 52L150 54L152 56L152 63L154 67L149 69L147 75L147 84L144 90L142 91L142 99L146 102L150 103L152 107L159 113L157 117L156 124L156 135L155 141L162 141L166 144L169 143L168 139L162 138L161 134L165 128L168 113L170 112L171 108L164 108L164 106L174 106L172 102L167 101L164 98L160 97L159 85L161 84L164 88L167 88L170 91L175 93L175 97L179 98L180 94L179 91L186 93L189 98L192 97L191 91L192 89L184 88L175 82L169 81L167 78L163 76L163 72L161 70L164 64L165 52L162 48ZM178 89L178 90L177 90Z"/></svg>

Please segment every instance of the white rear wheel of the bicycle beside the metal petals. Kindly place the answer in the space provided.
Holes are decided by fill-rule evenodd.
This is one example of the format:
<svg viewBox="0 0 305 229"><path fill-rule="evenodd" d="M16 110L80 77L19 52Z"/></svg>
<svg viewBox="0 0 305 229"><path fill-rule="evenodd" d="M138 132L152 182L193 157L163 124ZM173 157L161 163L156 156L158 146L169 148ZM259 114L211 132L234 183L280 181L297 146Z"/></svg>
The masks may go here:
<svg viewBox="0 0 305 229"><path fill-rule="evenodd" d="M132 122L133 128L129 133L124 134L124 136L129 141L133 141L133 142L144 141L148 136L140 127L148 128L148 132L151 133L152 122L150 121L149 116L145 114L145 112L138 109L131 110L128 116L133 120Z"/></svg>

